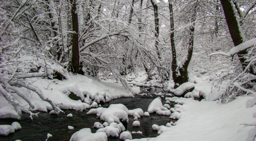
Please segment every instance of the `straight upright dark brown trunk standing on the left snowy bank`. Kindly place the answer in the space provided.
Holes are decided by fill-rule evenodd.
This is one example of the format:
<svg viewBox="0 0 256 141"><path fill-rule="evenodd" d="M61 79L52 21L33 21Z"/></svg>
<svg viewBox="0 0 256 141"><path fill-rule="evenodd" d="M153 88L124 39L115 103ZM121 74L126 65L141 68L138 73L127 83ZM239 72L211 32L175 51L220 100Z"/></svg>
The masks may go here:
<svg viewBox="0 0 256 141"><path fill-rule="evenodd" d="M72 72L78 74L79 72L79 45L78 45L78 16L76 8L76 0L70 0L71 3L71 15L72 15Z"/></svg>

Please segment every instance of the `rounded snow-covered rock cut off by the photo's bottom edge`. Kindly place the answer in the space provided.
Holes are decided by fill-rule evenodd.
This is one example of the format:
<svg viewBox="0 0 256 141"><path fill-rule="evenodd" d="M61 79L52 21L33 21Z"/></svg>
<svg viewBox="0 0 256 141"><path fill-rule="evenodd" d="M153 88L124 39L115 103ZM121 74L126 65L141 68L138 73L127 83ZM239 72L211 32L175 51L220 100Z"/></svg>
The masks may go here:
<svg viewBox="0 0 256 141"><path fill-rule="evenodd" d="M91 133L90 128L83 128L75 132L69 141L107 141L107 135L104 132Z"/></svg>

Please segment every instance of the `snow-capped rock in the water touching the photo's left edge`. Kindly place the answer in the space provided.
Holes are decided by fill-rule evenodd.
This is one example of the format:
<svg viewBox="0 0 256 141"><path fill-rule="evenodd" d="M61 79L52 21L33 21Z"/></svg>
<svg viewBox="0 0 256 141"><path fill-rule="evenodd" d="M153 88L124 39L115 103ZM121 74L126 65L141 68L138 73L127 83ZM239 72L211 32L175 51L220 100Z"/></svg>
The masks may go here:
<svg viewBox="0 0 256 141"><path fill-rule="evenodd" d="M11 125L0 125L0 135L8 136L10 133L14 133L19 129L21 129L19 122L13 122Z"/></svg>

